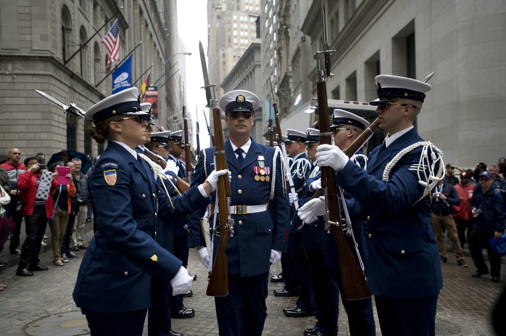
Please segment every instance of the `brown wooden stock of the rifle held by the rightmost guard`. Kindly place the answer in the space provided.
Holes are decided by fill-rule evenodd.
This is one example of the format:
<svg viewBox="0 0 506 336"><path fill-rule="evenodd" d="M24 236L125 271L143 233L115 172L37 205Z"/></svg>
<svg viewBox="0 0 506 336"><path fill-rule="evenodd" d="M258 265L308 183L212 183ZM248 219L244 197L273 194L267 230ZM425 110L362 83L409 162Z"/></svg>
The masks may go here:
<svg viewBox="0 0 506 336"><path fill-rule="evenodd" d="M332 132L330 131L328 115L327 85L325 81L317 82L316 85L318 91L320 143L331 145ZM371 291L342 230L341 207L339 205L338 191L334 183L335 172L332 167L321 167L320 171L321 186L326 202L325 224L330 227L332 236L338 244L344 296L347 300L368 298L371 296Z"/></svg>

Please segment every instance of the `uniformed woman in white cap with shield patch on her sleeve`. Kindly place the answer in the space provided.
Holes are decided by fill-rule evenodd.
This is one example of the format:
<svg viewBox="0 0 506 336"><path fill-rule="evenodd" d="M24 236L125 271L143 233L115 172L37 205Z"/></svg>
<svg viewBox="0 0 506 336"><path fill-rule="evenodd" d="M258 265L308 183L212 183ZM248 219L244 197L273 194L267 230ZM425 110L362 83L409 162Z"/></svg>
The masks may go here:
<svg viewBox="0 0 506 336"><path fill-rule="evenodd" d="M73 291L92 335L141 335L151 304L152 276L186 292L192 278L182 262L155 241L156 219L204 206L218 176L174 198L174 208L153 171L135 151L149 131L137 88L125 89L92 106L85 115L90 134L107 149L92 172L98 229L83 256Z"/></svg>

